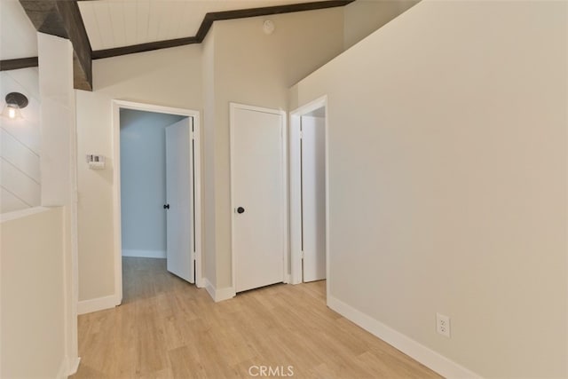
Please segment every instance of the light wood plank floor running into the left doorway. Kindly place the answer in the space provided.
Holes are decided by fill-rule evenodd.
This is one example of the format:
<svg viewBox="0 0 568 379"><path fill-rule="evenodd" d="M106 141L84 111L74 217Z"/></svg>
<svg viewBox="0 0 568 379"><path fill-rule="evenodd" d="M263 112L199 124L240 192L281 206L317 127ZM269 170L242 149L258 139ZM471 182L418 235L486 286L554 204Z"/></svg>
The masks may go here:
<svg viewBox="0 0 568 379"><path fill-rule="evenodd" d="M79 317L73 378L251 377L252 366L288 376L290 366L296 378L439 377L327 308L325 281L216 304L163 259L123 258L123 268L123 304Z"/></svg>

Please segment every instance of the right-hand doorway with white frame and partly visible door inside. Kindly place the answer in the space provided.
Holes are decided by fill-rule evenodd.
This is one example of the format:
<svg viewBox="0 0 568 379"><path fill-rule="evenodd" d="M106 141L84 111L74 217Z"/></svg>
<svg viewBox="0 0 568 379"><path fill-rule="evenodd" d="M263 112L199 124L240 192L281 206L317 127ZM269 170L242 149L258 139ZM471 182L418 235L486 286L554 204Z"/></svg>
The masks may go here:
<svg viewBox="0 0 568 379"><path fill-rule="evenodd" d="M291 283L327 279L327 99L290 114Z"/></svg>

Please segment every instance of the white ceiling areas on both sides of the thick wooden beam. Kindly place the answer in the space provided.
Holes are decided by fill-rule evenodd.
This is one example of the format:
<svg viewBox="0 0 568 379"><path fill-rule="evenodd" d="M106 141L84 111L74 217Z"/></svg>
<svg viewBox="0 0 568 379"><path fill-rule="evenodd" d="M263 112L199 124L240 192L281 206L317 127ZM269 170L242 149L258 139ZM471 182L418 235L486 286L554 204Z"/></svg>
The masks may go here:
<svg viewBox="0 0 568 379"><path fill-rule="evenodd" d="M97 0L79 9L93 51L195 36L208 12L313 0ZM316 0L321 1L321 0ZM0 59L37 56L36 28L19 0L0 0Z"/></svg>

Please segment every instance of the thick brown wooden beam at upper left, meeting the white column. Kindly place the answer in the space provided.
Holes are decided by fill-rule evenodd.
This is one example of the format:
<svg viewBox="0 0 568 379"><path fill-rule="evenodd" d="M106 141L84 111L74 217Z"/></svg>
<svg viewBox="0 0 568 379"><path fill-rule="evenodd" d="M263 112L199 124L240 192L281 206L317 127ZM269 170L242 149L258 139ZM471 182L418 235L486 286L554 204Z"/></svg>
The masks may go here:
<svg viewBox="0 0 568 379"><path fill-rule="evenodd" d="M38 32L67 38L73 44L74 87L92 91L91 43L75 0L20 0Z"/></svg>

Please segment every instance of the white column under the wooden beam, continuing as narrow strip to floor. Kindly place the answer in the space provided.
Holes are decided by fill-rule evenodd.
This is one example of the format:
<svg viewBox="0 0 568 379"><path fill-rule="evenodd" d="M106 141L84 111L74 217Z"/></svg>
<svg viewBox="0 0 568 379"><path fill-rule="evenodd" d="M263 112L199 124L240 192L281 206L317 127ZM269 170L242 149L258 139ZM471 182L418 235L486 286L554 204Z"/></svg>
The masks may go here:
<svg viewBox="0 0 568 379"><path fill-rule="evenodd" d="M38 33L37 47L40 62L42 205L64 206L61 233L65 249L62 279L64 280L63 323L66 361L61 367L61 375L71 375L79 365L73 46L65 38Z"/></svg>

